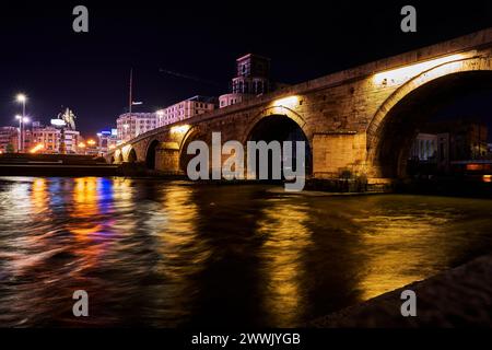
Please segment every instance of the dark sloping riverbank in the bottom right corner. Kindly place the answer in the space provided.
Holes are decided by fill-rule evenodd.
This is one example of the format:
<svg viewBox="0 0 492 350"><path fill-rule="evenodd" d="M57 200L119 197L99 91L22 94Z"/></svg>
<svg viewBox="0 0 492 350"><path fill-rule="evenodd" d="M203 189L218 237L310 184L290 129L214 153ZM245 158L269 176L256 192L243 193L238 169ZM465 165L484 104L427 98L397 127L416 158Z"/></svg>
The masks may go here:
<svg viewBox="0 0 492 350"><path fill-rule="evenodd" d="M400 313L403 290L417 293L417 317ZM492 327L492 255L327 315L311 327Z"/></svg>

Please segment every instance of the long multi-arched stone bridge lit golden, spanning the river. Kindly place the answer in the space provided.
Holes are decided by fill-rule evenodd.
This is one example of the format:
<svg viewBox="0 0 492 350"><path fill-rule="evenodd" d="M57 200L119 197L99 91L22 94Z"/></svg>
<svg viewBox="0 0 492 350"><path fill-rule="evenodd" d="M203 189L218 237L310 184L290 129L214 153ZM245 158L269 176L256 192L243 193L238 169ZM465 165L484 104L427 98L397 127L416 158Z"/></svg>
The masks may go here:
<svg viewBox="0 0 492 350"><path fill-rule="evenodd" d="M248 102L154 129L108 154L183 174L192 140L307 141L309 176L349 172L372 184L405 177L412 140L456 96L492 86L492 28L284 88ZM283 140L282 140L283 139ZM211 163L211 162L210 162Z"/></svg>

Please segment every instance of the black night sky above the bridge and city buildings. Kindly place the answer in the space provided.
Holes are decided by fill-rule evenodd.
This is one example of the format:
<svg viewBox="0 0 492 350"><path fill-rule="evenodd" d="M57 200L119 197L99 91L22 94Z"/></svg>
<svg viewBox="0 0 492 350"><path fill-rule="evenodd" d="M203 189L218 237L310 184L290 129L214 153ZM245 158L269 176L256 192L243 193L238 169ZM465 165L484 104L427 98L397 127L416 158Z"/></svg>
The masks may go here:
<svg viewBox="0 0 492 350"><path fill-rule="evenodd" d="M136 110L154 112L227 92L235 59L247 52L272 59L273 80L297 83L492 26L492 1L104 3L2 5L1 126L14 125L14 96L25 92L34 119L47 124L66 106L83 133L110 127L128 104L130 67L134 100L144 103ZM418 10L418 33L400 31L408 3ZM72 31L77 4L89 8L87 34ZM480 103L492 110L483 96Z"/></svg>

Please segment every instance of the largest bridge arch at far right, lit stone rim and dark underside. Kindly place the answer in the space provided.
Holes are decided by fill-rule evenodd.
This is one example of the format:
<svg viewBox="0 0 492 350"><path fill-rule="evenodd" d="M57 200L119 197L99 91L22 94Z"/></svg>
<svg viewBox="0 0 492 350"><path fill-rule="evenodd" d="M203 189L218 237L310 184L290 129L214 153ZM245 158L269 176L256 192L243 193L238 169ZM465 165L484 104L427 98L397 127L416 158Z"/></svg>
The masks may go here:
<svg viewBox="0 0 492 350"><path fill-rule="evenodd" d="M420 73L398 88L377 109L367 127L371 177L400 178L418 128L453 97L492 88L492 58L446 62Z"/></svg>

